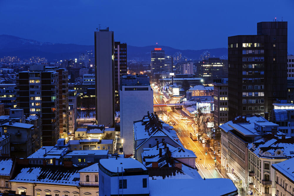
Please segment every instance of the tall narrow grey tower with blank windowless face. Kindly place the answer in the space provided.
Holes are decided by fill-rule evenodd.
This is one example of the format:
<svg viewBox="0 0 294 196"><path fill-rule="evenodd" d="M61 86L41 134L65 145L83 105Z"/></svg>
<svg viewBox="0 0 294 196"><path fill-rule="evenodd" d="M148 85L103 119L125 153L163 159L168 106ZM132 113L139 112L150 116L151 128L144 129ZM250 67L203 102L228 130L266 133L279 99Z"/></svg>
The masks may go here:
<svg viewBox="0 0 294 196"><path fill-rule="evenodd" d="M100 29L95 36L96 121L114 124L114 41L113 31Z"/></svg>

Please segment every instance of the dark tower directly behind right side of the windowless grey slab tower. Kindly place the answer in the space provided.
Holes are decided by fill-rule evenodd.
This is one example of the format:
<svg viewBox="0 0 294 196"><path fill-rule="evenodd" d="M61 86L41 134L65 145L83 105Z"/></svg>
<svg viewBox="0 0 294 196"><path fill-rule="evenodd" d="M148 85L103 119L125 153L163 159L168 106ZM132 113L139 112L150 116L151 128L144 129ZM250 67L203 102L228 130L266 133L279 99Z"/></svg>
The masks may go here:
<svg viewBox="0 0 294 196"><path fill-rule="evenodd" d="M127 44L114 42L114 94L115 104L119 103L120 77L127 75Z"/></svg>

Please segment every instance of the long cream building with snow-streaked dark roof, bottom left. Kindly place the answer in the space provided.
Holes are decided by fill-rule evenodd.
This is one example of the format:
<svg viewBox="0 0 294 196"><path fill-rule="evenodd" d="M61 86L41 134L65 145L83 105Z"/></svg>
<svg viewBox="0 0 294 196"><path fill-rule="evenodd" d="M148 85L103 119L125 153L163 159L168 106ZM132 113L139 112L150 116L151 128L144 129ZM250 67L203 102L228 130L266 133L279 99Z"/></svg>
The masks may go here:
<svg viewBox="0 0 294 196"><path fill-rule="evenodd" d="M27 195L80 196L99 195L98 165L88 168L61 166L24 167L10 180L11 190ZM81 171L81 172L80 172ZM90 177L91 176L91 177ZM92 177L94 176L94 177Z"/></svg>

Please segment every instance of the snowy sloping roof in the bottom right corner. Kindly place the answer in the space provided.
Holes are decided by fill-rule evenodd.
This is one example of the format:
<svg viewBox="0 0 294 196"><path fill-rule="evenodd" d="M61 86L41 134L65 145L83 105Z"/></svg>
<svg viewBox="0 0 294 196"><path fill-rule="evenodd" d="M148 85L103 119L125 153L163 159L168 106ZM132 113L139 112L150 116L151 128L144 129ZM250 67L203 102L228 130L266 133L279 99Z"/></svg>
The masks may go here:
<svg viewBox="0 0 294 196"><path fill-rule="evenodd" d="M294 158L273 164L272 167L294 183Z"/></svg>

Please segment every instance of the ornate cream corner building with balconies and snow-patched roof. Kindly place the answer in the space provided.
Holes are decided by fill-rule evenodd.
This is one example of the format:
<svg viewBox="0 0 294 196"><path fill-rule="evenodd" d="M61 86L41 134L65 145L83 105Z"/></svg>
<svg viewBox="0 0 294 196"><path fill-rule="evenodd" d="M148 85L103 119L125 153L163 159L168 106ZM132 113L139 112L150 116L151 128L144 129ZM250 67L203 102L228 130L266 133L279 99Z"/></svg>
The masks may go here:
<svg viewBox="0 0 294 196"><path fill-rule="evenodd" d="M268 134L248 144L249 192L275 195L272 164L294 157L294 139Z"/></svg>

